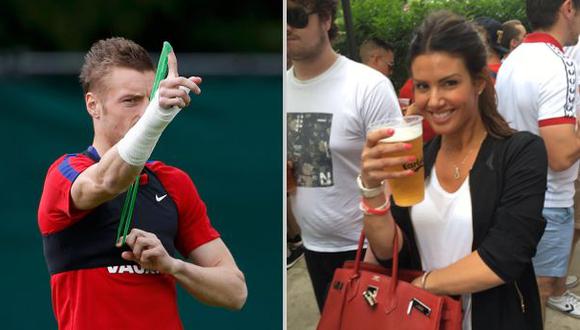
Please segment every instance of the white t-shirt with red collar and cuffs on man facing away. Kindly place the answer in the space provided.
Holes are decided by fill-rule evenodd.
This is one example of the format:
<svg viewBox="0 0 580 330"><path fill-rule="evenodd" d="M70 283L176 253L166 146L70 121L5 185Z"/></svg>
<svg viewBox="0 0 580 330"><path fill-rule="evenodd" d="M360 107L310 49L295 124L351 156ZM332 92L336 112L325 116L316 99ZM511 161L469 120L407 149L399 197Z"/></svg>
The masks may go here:
<svg viewBox="0 0 580 330"><path fill-rule="evenodd" d="M499 112L511 127L539 135L539 127L575 124L576 68L548 42L523 43L505 60L496 81ZM548 168L544 207L570 207L578 162L561 172Z"/></svg>

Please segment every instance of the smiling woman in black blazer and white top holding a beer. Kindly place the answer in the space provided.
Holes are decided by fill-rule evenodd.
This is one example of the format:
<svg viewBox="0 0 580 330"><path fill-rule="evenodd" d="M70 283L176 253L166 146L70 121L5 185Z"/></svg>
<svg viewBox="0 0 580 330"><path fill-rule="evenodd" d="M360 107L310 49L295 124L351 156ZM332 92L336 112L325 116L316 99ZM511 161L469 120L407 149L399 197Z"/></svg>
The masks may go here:
<svg viewBox="0 0 580 330"><path fill-rule="evenodd" d="M424 146L422 202L404 208L389 203L388 192L363 197L372 253L388 265L397 230L400 266L424 271L416 286L461 295L463 329L541 329L531 259L545 226L543 141L514 132L497 112L473 23L449 12L430 15L416 31L409 57L416 105L437 136ZM392 156L407 143L379 143L393 133L368 133L363 188L415 175L384 170L417 161Z"/></svg>

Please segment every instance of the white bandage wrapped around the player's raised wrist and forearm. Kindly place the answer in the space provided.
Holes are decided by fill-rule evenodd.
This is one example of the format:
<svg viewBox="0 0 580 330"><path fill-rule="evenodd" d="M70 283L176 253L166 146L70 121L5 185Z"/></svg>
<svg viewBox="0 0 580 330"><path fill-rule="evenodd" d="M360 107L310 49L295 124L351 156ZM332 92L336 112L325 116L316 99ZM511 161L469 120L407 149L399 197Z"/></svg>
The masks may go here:
<svg viewBox="0 0 580 330"><path fill-rule="evenodd" d="M187 91L189 92L189 90ZM151 156L161 133L181 110L178 107L164 109L159 106L159 95L149 102L139 121L117 143L119 156L128 164L141 166Z"/></svg>

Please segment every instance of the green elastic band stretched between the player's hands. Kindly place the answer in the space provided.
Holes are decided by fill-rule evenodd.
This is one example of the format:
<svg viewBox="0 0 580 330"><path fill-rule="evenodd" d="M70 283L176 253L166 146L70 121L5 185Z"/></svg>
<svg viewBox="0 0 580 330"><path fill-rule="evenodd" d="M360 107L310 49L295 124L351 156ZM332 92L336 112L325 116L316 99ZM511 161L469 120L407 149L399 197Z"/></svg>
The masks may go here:
<svg viewBox="0 0 580 330"><path fill-rule="evenodd" d="M167 71L169 70L167 57L172 50L173 48L167 41L163 42L163 50L161 50L161 55L159 56L159 63L157 64L157 71L155 72L155 81L153 82L153 88L151 89L149 100L153 99L153 96L155 96L155 92L159 89L159 83L161 83L161 80L167 77ZM131 219L133 219L133 210L135 209L135 200L137 199L138 189L139 175L137 175L135 182L133 182L127 190L123 209L121 210L121 219L119 221L119 227L117 228L117 238L115 239L115 243L117 243L121 237L121 233L123 233L121 246L125 245L127 233L129 232L129 227L131 227Z"/></svg>

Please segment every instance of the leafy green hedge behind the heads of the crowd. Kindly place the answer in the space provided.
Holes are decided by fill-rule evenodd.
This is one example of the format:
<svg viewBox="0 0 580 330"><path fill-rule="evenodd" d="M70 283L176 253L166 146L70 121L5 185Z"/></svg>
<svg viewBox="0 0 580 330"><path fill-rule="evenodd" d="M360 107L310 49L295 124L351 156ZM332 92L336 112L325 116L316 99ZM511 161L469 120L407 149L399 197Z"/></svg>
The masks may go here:
<svg viewBox="0 0 580 330"><path fill-rule="evenodd" d="M446 9L467 18L486 16L503 23L519 19L526 25L524 0L351 0L354 36L357 47L370 37L382 38L395 46L393 84L398 90L408 78L407 49L413 30L435 10ZM337 15L340 29L335 48L347 53L342 12ZM358 59L358 49L356 58Z"/></svg>

